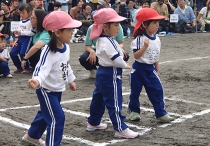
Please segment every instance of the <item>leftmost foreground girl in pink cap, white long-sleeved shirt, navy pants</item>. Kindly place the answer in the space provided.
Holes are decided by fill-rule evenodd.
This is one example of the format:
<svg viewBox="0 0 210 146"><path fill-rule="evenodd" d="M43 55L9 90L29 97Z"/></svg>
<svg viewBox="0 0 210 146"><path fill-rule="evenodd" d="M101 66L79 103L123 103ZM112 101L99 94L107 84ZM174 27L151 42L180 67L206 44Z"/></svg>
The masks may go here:
<svg viewBox="0 0 210 146"><path fill-rule="evenodd" d="M49 31L51 39L42 50L29 87L36 89L40 109L22 140L43 146L59 146L62 140L65 115L60 105L62 92L68 83L76 90L75 76L69 65L69 40L72 28L81 26L63 11L49 13L43 27ZM40 138L47 128L46 142Z"/></svg>

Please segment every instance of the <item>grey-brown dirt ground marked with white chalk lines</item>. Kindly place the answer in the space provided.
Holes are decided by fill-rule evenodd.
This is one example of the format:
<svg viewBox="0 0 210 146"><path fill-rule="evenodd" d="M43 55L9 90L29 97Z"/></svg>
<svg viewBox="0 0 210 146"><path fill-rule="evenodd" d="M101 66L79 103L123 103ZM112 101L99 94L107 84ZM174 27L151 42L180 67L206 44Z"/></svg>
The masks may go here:
<svg viewBox="0 0 210 146"><path fill-rule="evenodd" d="M86 121L94 89L78 61L84 44L71 44L71 66L77 77L77 91L68 88L62 97L66 121L62 146L85 145L139 145L139 146L206 146L210 143L210 48L209 33L177 34L161 37L161 81L164 87L166 109L176 119L170 124L156 123L153 107L142 91L141 121L130 122L129 127L140 136L133 140L114 138L114 130L107 111L102 122L108 123L104 131L87 132ZM125 40L130 52L131 39ZM133 56L129 63L132 64ZM11 72L15 70L10 61ZM35 91L27 81L31 74L15 74L14 78L0 77L0 146L28 146L21 141L39 109ZM129 96L129 70L123 73L123 114L127 114ZM43 139L45 135L43 135Z"/></svg>

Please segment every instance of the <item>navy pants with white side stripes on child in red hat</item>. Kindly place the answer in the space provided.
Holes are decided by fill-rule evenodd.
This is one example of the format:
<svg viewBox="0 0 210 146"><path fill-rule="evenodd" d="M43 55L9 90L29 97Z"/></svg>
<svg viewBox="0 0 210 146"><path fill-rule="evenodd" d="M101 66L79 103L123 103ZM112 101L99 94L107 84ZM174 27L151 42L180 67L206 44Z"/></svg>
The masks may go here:
<svg viewBox="0 0 210 146"><path fill-rule="evenodd" d="M140 113L139 95L144 86L149 100L151 101L156 118L167 114L165 110L163 88L153 64L144 64L135 61L130 73L130 111Z"/></svg>

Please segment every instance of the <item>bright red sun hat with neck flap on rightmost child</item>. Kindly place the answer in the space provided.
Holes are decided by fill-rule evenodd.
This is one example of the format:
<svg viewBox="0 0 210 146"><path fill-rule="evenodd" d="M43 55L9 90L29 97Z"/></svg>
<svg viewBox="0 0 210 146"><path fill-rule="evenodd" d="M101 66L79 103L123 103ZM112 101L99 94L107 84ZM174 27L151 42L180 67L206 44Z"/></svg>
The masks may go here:
<svg viewBox="0 0 210 146"><path fill-rule="evenodd" d="M144 21L148 21L148 20L161 20L161 19L165 19L165 16L161 16L157 13L157 11L155 11L152 8L143 8L141 9L137 15L136 15L136 19L137 19L137 24L135 26L135 29L133 31L133 34L136 33L137 29L141 26L141 24Z"/></svg>

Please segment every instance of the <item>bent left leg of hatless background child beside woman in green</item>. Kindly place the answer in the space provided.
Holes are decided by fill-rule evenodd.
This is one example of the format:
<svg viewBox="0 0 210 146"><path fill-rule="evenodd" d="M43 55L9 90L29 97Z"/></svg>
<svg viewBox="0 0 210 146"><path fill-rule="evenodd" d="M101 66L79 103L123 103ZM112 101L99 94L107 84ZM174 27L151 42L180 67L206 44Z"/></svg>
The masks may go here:
<svg viewBox="0 0 210 146"><path fill-rule="evenodd" d="M20 53L20 48L21 48L21 44L18 42L18 45L14 46L12 50L10 51L10 57L17 69L21 69L21 62L18 57L18 54Z"/></svg>

